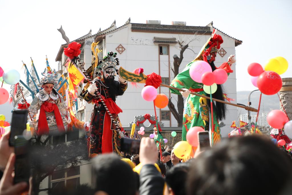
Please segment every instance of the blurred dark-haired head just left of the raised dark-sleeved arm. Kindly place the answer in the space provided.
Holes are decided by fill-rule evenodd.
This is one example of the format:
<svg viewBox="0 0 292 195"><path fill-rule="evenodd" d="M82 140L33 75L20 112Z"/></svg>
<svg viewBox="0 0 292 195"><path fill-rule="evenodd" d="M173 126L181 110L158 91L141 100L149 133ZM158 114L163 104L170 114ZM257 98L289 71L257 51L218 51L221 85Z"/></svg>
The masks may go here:
<svg viewBox="0 0 292 195"><path fill-rule="evenodd" d="M103 191L108 195L135 195L138 191L138 175L130 165L121 161L115 154L102 154L92 159L92 166L96 175L95 191ZM127 181L131 187L124 187Z"/></svg>

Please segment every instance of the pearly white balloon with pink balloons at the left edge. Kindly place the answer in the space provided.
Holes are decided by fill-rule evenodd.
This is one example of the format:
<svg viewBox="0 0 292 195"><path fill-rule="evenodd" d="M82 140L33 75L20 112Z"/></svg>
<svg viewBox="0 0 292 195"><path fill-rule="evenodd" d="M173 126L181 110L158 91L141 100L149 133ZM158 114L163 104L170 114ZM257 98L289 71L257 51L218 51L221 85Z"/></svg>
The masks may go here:
<svg viewBox="0 0 292 195"><path fill-rule="evenodd" d="M2 83L14 85L18 83L20 80L20 74L17 70L11 69L4 72L4 70L0 67L0 86ZM6 89L0 87L0 105L4 104L9 99L9 93Z"/></svg>

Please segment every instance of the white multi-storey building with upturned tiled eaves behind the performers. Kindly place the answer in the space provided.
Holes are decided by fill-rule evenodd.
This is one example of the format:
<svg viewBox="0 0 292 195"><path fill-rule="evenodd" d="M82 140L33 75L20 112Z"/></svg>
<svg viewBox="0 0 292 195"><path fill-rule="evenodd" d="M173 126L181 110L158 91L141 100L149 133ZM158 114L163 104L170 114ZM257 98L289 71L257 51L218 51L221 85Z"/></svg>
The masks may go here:
<svg viewBox="0 0 292 195"><path fill-rule="evenodd" d="M213 22L207 26L186 26L184 22L173 22L178 25L161 25L160 21L149 21L146 24L131 23L130 19L120 27L116 27L115 21L106 30L99 30L96 34L91 34L91 31L74 41L79 42L82 46L82 53L80 58L85 63L87 69L91 65L91 43L93 41L99 41L100 49L103 50L103 54L100 53L99 58L102 55L105 56L107 52L117 52L120 65L126 70L133 71L136 68L143 68L144 73L150 74L155 72L162 77L162 81L165 84L169 84L173 79L171 66L173 65L173 56L180 54L180 50L176 41L189 42L194 38L194 34L197 35L196 40L189 43L189 49L185 50L183 56L183 62L181 63L180 71L185 68L185 65L191 62L201 50L201 47L206 43L213 31ZM224 40L221 44L221 49L218 52L215 65L220 66L223 62L227 61L227 58L235 54L235 46L238 46L242 41L230 37L229 35L217 31ZM60 73L65 73L63 63L66 59L63 49L67 47L67 44L63 44L60 47L56 61L59 61ZM224 84L225 93L228 97L234 98L236 102L236 65L232 65L234 71L228 77L227 82ZM117 98L117 104L123 110L119 118L124 127L128 126L128 123L134 120L137 115L144 115L149 113L154 115L153 103L144 101L141 97L141 90L143 85L140 84L139 88L128 85L128 89L123 96ZM175 99L177 95L170 93L166 87L159 87L159 93L164 93L168 97L173 97L173 103L176 106ZM77 117L82 121L88 121L92 111L92 104L88 104L84 100L78 100L78 114ZM158 109L157 109L158 112ZM160 109L158 112L160 120L164 123L164 127L177 127L177 121L171 115L168 107ZM224 123L225 127L221 129L223 137L227 137L230 132L230 125L233 120L237 118L237 108L227 105L227 116Z"/></svg>

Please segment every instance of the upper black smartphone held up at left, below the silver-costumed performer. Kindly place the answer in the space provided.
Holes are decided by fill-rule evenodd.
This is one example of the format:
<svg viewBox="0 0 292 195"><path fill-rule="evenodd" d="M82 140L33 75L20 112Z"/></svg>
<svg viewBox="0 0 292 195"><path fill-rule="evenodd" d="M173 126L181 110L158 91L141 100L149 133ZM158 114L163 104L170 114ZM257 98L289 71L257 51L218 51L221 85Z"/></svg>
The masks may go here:
<svg viewBox="0 0 292 195"><path fill-rule="evenodd" d="M9 145L15 146L15 139L26 129L27 110L17 110L12 113Z"/></svg>

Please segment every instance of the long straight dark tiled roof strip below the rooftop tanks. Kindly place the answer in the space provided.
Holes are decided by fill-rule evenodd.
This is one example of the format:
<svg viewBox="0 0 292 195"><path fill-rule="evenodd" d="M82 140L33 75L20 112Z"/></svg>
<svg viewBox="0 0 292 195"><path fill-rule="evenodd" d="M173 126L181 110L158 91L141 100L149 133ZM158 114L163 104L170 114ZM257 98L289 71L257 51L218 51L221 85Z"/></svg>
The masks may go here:
<svg viewBox="0 0 292 195"><path fill-rule="evenodd" d="M160 33L184 33L184 34L211 34L208 26L183 26L183 25L161 25L161 24L139 24L131 23L132 31L136 32L160 32Z"/></svg>

